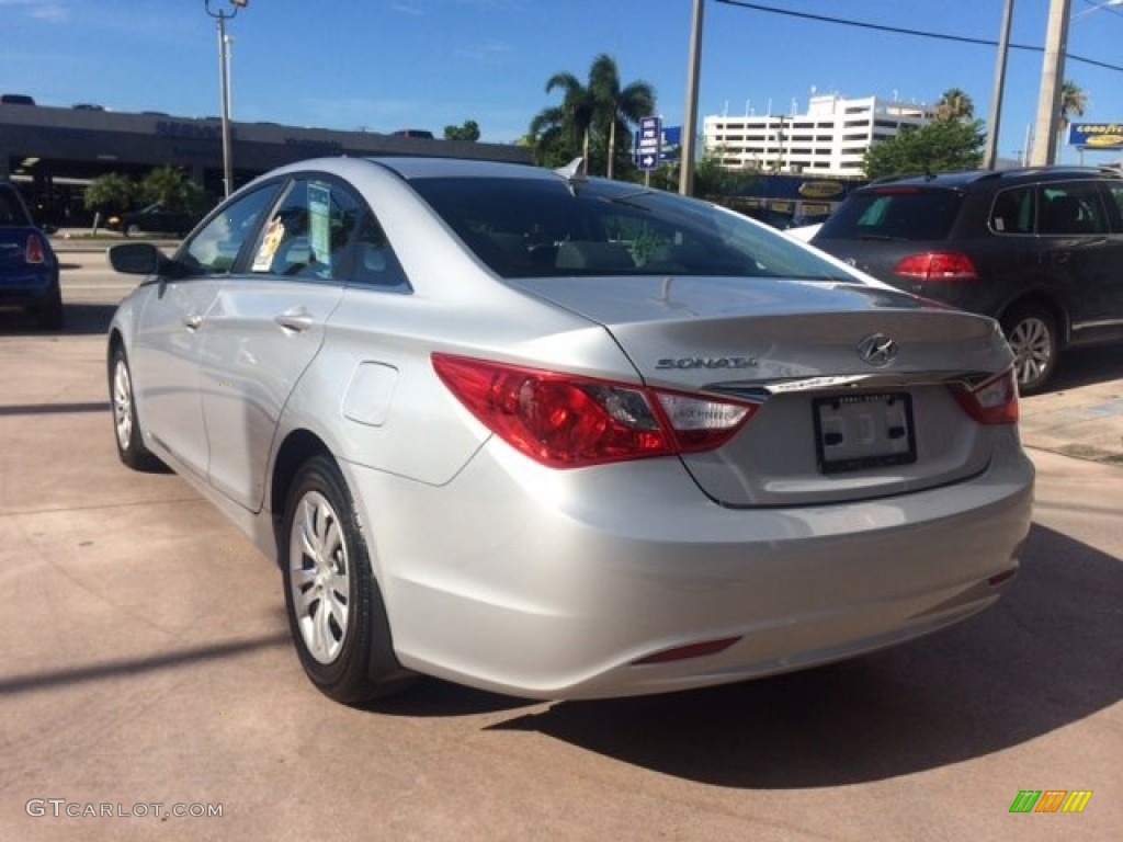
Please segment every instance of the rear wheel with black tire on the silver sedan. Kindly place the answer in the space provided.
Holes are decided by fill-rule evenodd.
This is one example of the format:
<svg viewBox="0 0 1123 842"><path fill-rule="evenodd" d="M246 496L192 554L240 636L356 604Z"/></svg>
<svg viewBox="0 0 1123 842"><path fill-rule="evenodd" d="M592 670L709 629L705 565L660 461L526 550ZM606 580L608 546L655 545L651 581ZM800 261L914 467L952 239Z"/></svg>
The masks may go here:
<svg viewBox="0 0 1123 842"><path fill-rule="evenodd" d="M402 689L412 674L394 657L355 505L329 457L296 472L277 543L289 628L312 684L347 705Z"/></svg>

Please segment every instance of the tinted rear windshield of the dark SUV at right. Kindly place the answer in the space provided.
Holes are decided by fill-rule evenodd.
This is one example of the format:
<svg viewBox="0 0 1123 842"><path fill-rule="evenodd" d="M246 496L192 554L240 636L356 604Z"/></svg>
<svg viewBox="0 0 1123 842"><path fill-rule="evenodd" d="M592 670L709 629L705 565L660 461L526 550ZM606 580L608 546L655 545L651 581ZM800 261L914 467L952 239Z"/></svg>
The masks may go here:
<svg viewBox="0 0 1123 842"><path fill-rule="evenodd" d="M947 239L962 201L962 193L950 190L897 187L852 193L815 239Z"/></svg>

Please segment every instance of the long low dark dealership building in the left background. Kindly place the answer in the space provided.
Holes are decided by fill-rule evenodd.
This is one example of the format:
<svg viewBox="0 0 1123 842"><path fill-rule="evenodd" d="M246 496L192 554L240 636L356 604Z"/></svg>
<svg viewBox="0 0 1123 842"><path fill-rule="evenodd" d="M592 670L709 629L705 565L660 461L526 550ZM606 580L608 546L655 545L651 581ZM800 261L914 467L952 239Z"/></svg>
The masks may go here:
<svg viewBox="0 0 1123 842"><path fill-rule="evenodd" d="M531 161L530 149L520 146L418 134L231 122L234 185L283 164L326 155ZM157 166L180 167L220 198L225 192L221 120L0 102L0 181L19 186L40 223L84 225L90 218L82 201L86 184L108 173L140 179Z"/></svg>

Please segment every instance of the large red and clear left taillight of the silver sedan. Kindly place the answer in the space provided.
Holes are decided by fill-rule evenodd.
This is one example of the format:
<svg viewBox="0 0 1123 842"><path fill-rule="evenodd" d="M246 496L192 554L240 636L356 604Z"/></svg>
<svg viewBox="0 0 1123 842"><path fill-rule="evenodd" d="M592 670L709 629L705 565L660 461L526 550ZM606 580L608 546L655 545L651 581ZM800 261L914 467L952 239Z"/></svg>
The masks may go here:
<svg viewBox="0 0 1123 842"><path fill-rule="evenodd" d="M435 354L437 376L493 433L555 468L712 450L755 404Z"/></svg>

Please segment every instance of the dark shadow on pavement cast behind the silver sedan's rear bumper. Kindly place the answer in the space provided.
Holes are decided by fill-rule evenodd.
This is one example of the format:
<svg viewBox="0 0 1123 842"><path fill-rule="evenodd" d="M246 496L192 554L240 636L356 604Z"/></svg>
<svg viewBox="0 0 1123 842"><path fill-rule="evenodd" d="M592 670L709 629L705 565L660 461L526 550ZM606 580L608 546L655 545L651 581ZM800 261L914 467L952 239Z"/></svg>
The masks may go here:
<svg viewBox="0 0 1123 842"><path fill-rule="evenodd" d="M1119 559L1039 525L1024 558L996 606L931 638L725 687L558 703L489 730L754 789L882 780L1008 749L1123 696Z"/></svg>

